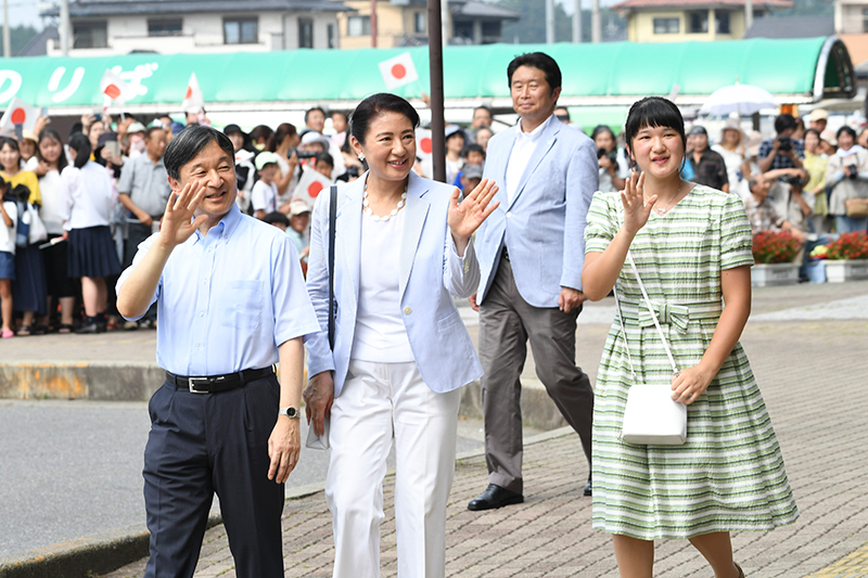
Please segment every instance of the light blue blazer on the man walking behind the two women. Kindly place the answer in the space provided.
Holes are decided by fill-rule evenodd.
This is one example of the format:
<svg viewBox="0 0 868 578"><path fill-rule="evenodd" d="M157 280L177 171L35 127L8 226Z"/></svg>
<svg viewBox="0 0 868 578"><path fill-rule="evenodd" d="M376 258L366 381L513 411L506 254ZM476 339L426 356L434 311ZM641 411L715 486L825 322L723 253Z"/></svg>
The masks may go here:
<svg viewBox="0 0 868 578"><path fill-rule="evenodd" d="M585 222L598 187L597 147L582 131L550 117L510 204L507 164L516 124L488 141L484 177L500 206L476 232L482 279L476 303L492 286L506 244L519 293L534 307L558 307L561 287L582 290Z"/></svg>

